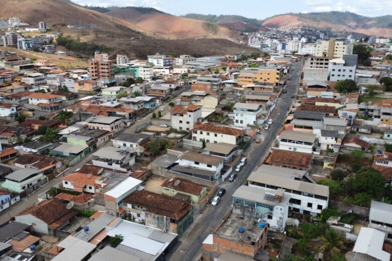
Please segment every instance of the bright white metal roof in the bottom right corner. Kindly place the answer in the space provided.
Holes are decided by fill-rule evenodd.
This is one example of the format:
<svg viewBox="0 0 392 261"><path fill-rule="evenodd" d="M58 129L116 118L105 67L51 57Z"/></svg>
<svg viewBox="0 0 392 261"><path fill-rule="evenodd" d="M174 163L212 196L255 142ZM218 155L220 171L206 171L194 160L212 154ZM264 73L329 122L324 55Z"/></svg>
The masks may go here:
<svg viewBox="0 0 392 261"><path fill-rule="evenodd" d="M385 233L374 228L361 227L353 252L370 255L380 261L389 261L390 253L382 250Z"/></svg>

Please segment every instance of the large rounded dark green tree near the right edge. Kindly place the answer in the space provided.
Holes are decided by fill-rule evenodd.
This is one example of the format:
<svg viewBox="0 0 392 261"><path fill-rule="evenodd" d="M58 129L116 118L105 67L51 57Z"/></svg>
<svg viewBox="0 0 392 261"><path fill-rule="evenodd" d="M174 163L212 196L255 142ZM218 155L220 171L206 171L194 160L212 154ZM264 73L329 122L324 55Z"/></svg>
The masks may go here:
<svg viewBox="0 0 392 261"><path fill-rule="evenodd" d="M363 167L356 173L352 187L358 193L366 191L374 196L378 192L383 191L385 180L378 170L371 167Z"/></svg>

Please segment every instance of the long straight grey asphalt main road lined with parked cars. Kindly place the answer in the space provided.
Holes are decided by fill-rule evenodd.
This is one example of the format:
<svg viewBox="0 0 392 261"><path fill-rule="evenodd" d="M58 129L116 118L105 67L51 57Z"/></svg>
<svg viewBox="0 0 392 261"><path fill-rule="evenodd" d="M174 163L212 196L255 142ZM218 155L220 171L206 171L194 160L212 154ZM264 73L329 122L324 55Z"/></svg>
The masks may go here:
<svg viewBox="0 0 392 261"><path fill-rule="evenodd" d="M226 189L226 194L222 197L221 201L217 206L210 206L204 210L203 216L197 221L198 223L193 226L193 229L184 238L180 238L181 244L173 252L166 255L166 260L177 261L186 260L187 255L189 260L199 260L202 253L202 242L206 237L212 233L214 228L222 221L223 217L229 212L232 205L231 195L234 191L245 184L246 179L252 173L252 171L261 165L263 158L269 152L271 142L276 138L276 135L283 125L286 119L287 112L294 99L290 96L295 94L298 89L299 77L301 74L301 62L295 63L295 71L291 72L291 80L287 81L286 89L287 93L282 93L277 101L277 105L270 115L273 118L273 123L268 129L267 137L260 144L254 144L251 151L248 153L247 164L238 173L238 176L234 182L227 182L222 184L220 187ZM268 135L268 133L270 135Z"/></svg>

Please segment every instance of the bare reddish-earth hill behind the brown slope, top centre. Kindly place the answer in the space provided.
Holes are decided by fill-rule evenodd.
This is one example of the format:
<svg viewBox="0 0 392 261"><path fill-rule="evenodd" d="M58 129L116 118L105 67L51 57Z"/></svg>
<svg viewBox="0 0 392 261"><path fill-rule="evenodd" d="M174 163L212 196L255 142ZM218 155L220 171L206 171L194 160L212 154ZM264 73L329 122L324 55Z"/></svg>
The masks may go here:
<svg viewBox="0 0 392 261"><path fill-rule="evenodd" d="M167 39L221 38L238 41L242 38L238 33L215 23L172 16L152 8L126 7L105 14Z"/></svg>

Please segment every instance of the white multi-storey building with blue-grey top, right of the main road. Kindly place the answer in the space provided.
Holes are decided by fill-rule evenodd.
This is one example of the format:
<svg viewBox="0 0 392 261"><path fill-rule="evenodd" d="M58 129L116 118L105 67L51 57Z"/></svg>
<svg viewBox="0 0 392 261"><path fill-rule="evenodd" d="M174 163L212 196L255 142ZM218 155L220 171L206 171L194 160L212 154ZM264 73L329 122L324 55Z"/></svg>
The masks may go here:
<svg viewBox="0 0 392 261"><path fill-rule="evenodd" d="M342 58L331 59L328 65L330 81L354 80L358 55L343 55Z"/></svg>

